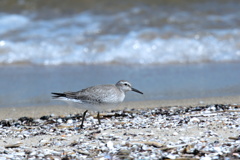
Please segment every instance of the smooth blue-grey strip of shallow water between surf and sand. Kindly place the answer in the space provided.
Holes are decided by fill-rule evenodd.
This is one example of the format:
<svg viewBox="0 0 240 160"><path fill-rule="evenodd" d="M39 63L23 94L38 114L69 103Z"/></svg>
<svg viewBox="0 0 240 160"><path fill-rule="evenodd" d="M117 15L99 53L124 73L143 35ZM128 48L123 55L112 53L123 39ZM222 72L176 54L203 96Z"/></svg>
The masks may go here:
<svg viewBox="0 0 240 160"><path fill-rule="evenodd" d="M1 66L0 106L56 105L51 92L129 80L126 101L240 95L240 64ZM61 103L63 104L63 103Z"/></svg>

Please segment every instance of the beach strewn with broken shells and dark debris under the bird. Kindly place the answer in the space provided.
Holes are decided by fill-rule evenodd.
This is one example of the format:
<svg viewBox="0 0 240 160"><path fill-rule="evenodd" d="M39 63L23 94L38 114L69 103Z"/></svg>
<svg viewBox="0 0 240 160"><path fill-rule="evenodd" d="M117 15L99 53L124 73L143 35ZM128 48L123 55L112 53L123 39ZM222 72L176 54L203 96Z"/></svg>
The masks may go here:
<svg viewBox="0 0 240 160"><path fill-rule="evenodd" d="M100 126L90 112L83 129L76 108L71 114L54 112L60 106L42 114L15 108L28 112L14 118L1 109L0 159L240 158L239 97L124 104L125 109L101 113Z"/></svg>

